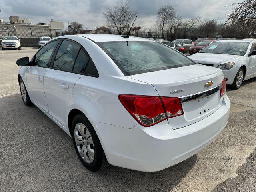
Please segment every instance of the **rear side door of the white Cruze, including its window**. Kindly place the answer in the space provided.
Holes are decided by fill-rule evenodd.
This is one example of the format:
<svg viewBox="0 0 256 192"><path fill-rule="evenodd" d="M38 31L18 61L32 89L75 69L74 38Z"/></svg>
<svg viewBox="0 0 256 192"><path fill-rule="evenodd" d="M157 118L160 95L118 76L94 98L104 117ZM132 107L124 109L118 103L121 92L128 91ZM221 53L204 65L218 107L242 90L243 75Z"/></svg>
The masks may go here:
<svg viewBox="0 0 256 192"><path fill-rule="evenodd" d="M66 110L75 83L84 72L89 56L72 40L62 40L44 77L49 114L66 127Z"/></svg>

